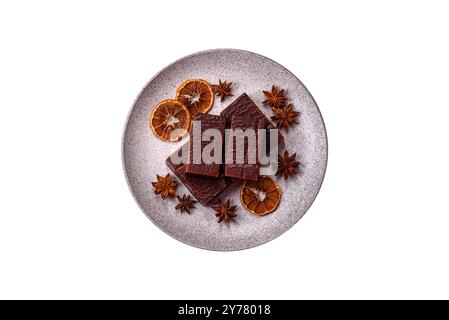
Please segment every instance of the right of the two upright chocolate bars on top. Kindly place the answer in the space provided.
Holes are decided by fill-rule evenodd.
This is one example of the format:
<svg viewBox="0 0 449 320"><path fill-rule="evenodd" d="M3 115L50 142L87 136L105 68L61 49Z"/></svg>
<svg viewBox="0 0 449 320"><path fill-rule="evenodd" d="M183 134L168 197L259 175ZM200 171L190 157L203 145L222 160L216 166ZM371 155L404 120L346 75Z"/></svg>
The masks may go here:
<svg viewBox="0 0 449 320"><path fill-rule="evenodd" d="M263 119L233 115L231 135L226 150L225 176L241 180L257 181L257 129L264 125ZM237 131L237 129L240 129ZM253 139L253 141L249 141ZM237 154L240 153L240 159ZM239 160L239 161L237 161ZM241 162L243 160L243 163ZM240 163L239 163L240 162Z"/></svg>

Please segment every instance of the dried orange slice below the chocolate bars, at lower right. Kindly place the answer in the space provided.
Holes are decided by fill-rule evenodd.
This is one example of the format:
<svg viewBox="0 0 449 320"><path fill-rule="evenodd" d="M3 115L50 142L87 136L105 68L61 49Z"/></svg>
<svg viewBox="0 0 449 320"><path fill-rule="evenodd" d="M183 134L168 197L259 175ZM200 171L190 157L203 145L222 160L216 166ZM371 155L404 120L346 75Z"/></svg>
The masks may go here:
<svg viewBox="0 0 449 320"><path fill-rule="evenodd" d="M281 201L281 188L271 177L260 176L257 181L247 180L240 189L240 201L246 210L264 216L276 210Z"/></svg>

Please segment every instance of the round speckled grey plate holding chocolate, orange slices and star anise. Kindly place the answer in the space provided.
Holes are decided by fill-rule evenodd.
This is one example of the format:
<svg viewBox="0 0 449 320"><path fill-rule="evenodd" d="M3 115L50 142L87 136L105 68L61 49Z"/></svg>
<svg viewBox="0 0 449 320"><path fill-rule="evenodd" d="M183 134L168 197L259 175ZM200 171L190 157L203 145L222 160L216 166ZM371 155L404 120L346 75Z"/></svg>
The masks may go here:
<svg viewBox="0 0 449 320"><path fill-rule="evenodd" d="M285 88L298 111L300 125L286 136L286 148L298 154L301 173L287 182L278 180L282 200L278 209L264 217L247 212L239 199L240 187L234 186L222 198L239 205L235 223L218 224L211 208L197 208L192 214L174 209L176 200L163 201L153 192L156 174L171 173L165 159L185 140L178 143L157 139L148 126L153 106L162 99L174 98L177 86L185 79L202 78L211 83L218 79L233 81L234 97L223 103L215 99L210 113L219 114L234 98L246 92L260 109L262 90L272 84ZM290 229L306 213L318 194L327 164L327 138L320 111L305 86L290 71L261 55L233 49L195 53L160 71L142 90L134 103L123 135L123 166L134 198L151 221L172 237L203 249L240 250L268 242ZM189 194L181 184L178 193Z"/></svg>

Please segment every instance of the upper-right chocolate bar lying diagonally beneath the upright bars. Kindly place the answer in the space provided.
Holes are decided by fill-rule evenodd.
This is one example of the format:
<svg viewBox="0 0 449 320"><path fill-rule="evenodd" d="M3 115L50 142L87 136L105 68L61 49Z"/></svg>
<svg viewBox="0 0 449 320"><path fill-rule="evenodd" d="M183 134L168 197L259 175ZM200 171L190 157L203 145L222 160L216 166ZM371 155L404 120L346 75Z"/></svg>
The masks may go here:
<svg viewBox="0 0 449 320"><path fill-rule="evenodd" d="M224 109L220 115L226 119L226 128L230 128L232 116L242 116L255 118L261 125L259 129L275 129L275 126L265 116L265 114L257 107L253 100L246 94L242 93L233 103ZM267 130L267 151L270 149L270 132ZM278 132L278 146L284 143L284 137Z"/></svg>

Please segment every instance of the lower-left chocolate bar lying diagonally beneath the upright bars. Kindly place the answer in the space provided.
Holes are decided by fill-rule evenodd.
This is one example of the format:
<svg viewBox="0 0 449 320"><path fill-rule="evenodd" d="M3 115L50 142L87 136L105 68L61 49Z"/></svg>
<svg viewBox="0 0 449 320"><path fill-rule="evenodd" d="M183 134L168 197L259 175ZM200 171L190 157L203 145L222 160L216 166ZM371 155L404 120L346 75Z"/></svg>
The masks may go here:
<svg viewBox="0 0 449 320"><path fill-rule="evenodd" d="M184 156L181 149L175 152L178 157ZM185 156L185 160L187 160L187 156ZM178 162L181 163L177 164ZM167 158L165 163L178 177L178 179L182 181L186 188L189 189L196 200L198 200L198 202L205 207L211 204L224 190L226 190L227 187L232 184L232 181L224 177L222 173L218 178L188 174L186 173L187 165L185 164L185 161L177 161L175 163L171 156Z"/></svg>

